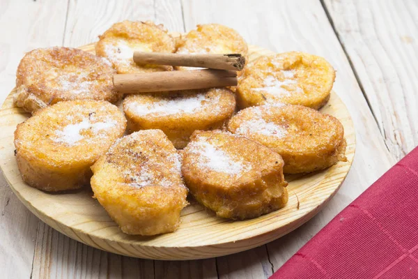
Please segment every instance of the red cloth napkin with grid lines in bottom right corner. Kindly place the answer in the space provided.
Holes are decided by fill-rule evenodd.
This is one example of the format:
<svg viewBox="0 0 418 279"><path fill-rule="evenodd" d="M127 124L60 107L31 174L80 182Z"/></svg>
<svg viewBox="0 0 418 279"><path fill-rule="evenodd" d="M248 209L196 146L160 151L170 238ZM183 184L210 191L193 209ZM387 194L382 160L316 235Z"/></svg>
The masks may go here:
<svg viewBox="0 0 418 279"><path fill-rule="evenodd" d="M418 278L418 147L270 278Z"/></svg>

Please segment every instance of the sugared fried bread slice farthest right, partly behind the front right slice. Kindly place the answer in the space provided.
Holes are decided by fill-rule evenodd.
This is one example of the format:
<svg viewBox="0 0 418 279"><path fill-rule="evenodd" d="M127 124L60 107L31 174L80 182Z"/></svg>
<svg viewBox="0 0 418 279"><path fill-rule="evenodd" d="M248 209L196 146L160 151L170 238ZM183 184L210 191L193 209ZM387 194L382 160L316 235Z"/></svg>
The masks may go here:
<svg viewBox="0 0 418 279"><path fill-rule="evenodd" d="M346 161L340 121L309 107L249 107L233 116L228 130L274 149L283 157L288 174L314 172Z"/></svg>

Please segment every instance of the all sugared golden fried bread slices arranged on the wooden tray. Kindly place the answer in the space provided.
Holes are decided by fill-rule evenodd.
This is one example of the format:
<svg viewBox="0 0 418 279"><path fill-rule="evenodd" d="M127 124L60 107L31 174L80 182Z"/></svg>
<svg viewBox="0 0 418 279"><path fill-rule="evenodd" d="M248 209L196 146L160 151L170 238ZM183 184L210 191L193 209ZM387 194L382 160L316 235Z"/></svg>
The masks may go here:
<svg viewBox="0 0 418 279"><path fill-rule="evenodd" d="M220 218L277 211L288 202L284 174L346 160L343 126L318 111L335 79L319 56L261 56L233 90L134 93L118 108L112 75L193 69L139 65L135 51L247 56L247 43L220 24L173 38L162 25L124 21L99 38L96 55L51 47L24 56L15 105L32 116L15 131L16 158L31 187L90 185L126 234L175 231L188 193Z"/></svg>

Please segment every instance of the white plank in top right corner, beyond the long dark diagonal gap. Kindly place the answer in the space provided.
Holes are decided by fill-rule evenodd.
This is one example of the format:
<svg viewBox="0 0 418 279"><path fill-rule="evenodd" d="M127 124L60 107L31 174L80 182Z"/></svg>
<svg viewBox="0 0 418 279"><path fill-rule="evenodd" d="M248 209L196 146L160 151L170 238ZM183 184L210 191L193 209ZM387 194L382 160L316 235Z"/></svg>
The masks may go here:
<svg viewBox="0 0 418 279"><path fill-rule="evenodd" d="M325 0L389 150L418 145L418 2Z"/></svg>

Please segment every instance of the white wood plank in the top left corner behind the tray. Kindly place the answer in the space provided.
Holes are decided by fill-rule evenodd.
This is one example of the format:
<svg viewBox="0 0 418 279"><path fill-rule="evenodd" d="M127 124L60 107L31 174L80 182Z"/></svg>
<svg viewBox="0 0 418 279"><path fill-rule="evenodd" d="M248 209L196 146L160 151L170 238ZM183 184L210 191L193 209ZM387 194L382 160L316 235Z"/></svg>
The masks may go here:
<svg viewBox="0 0 418 279"><path fill-rule="evenodd" d="M0 103L15 87L17 65L25 52L62 44L67 1L1 0Z"/></svg>

